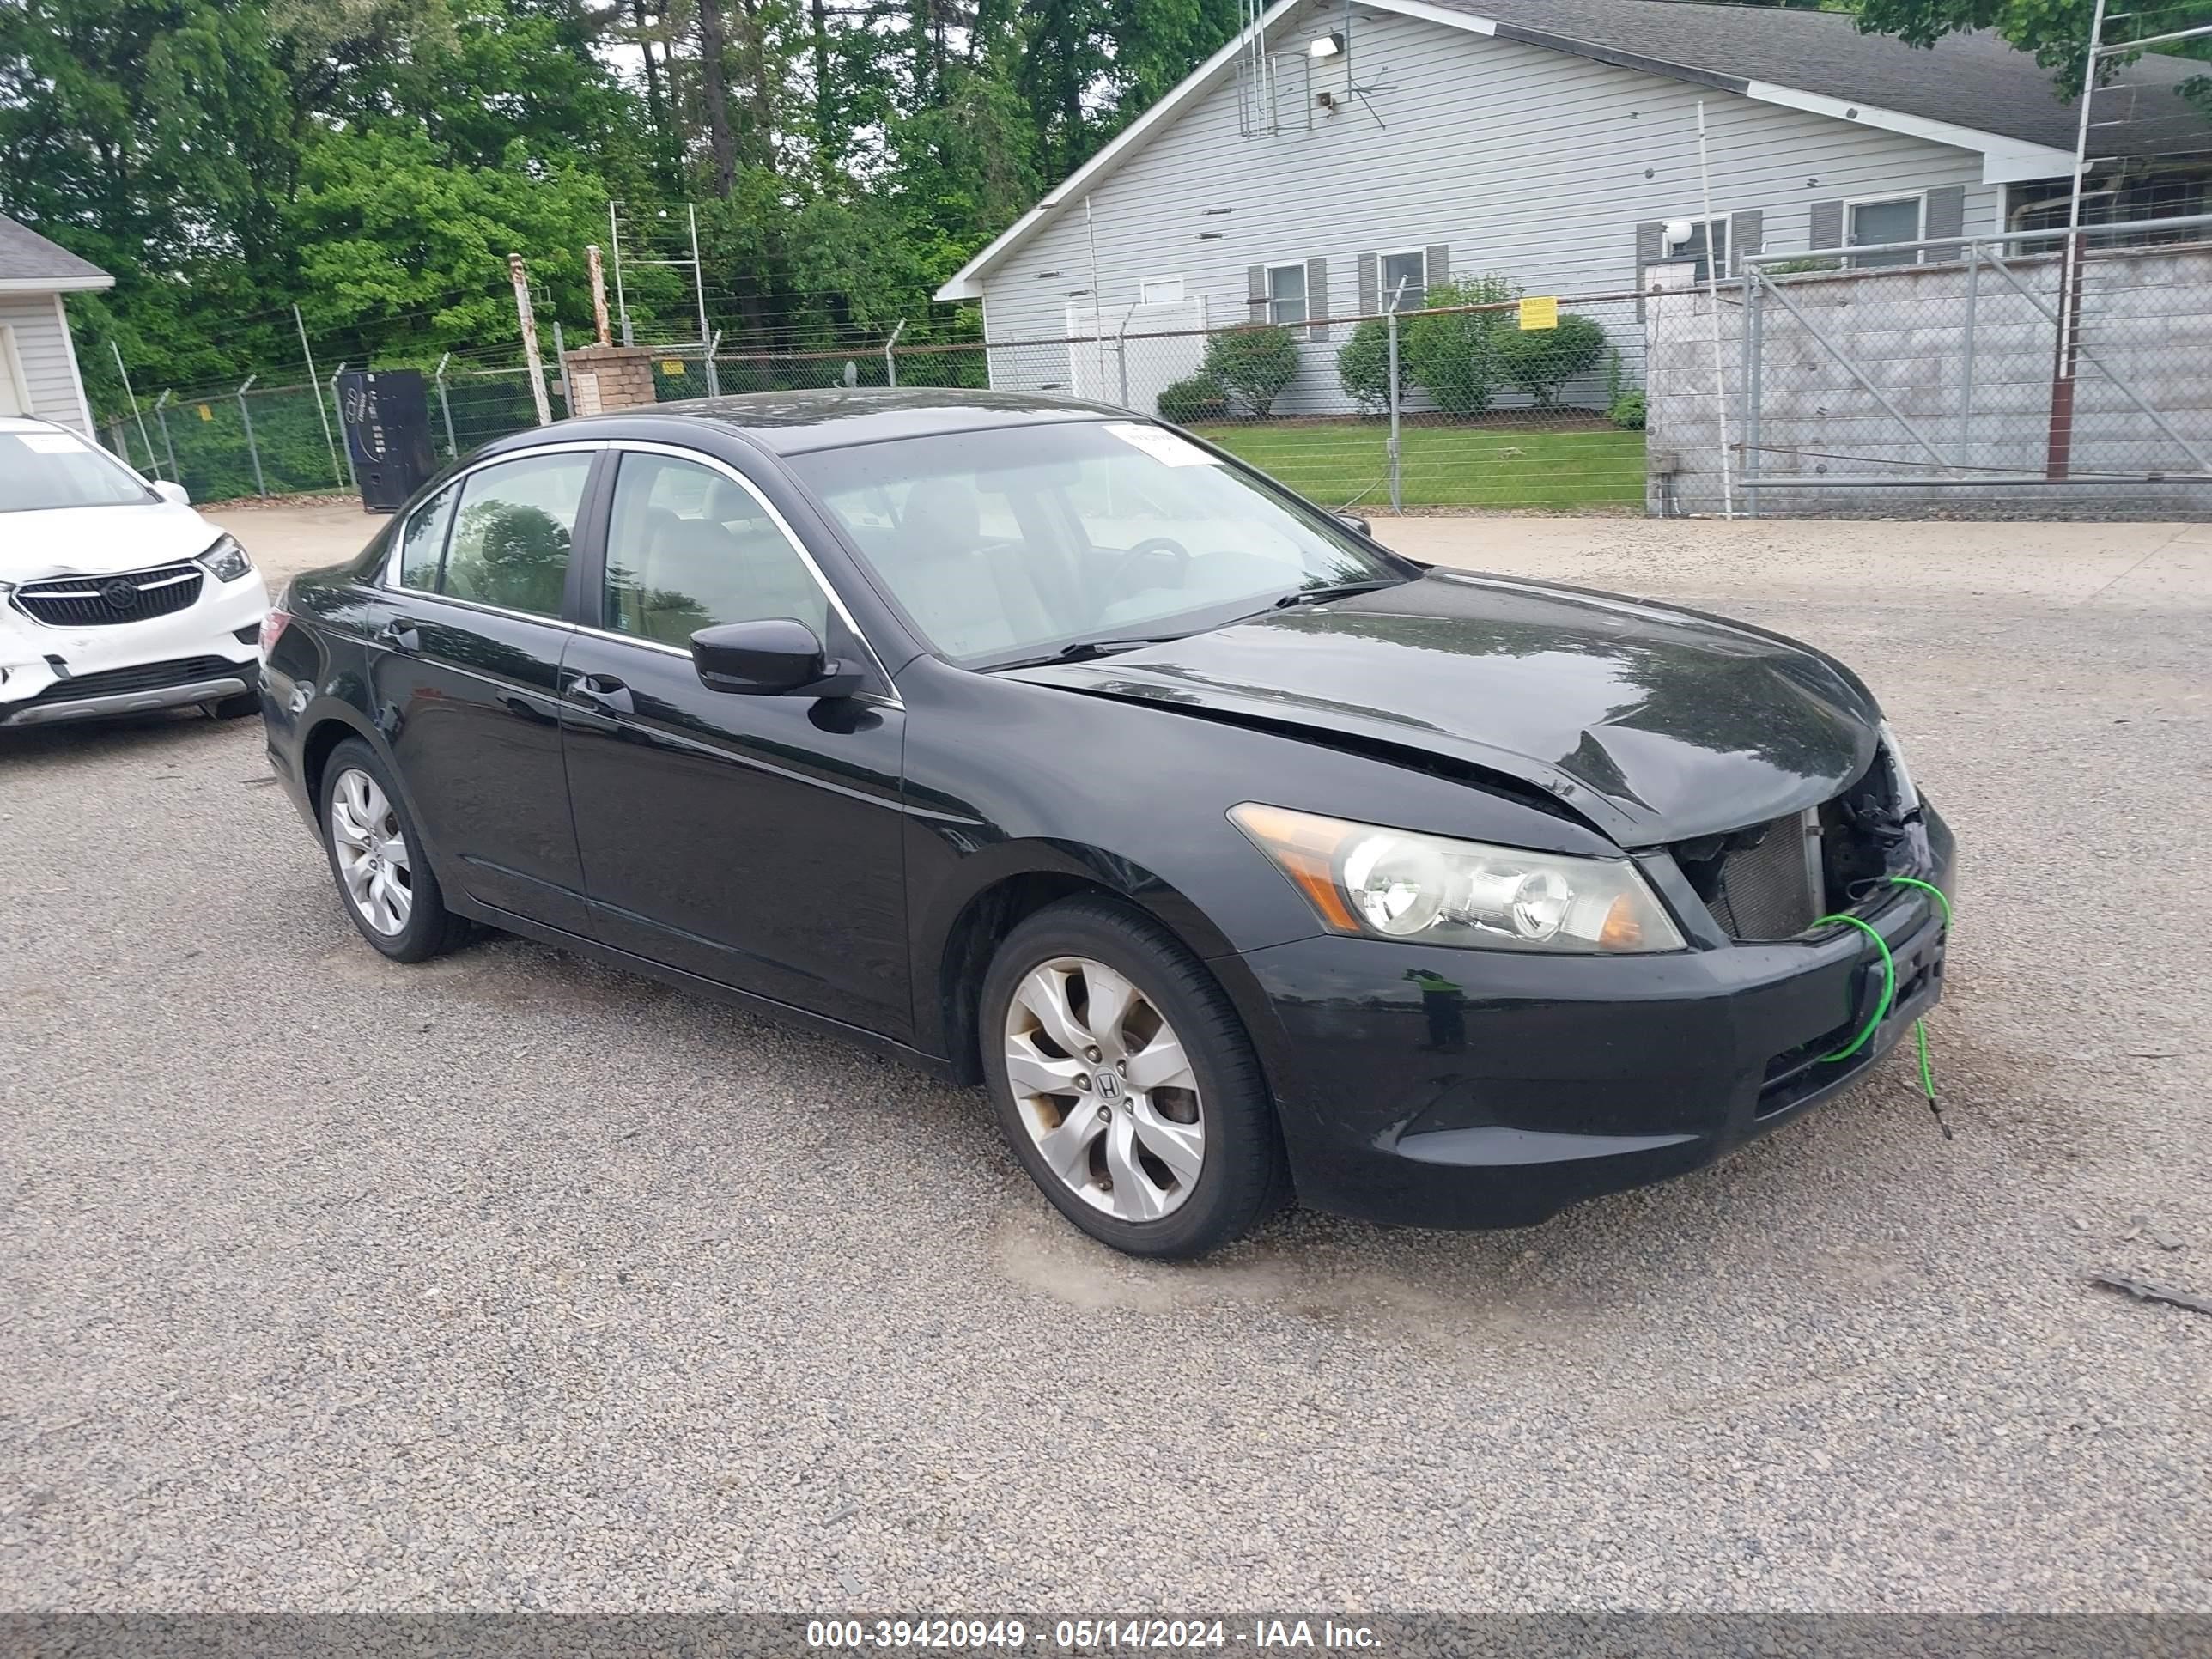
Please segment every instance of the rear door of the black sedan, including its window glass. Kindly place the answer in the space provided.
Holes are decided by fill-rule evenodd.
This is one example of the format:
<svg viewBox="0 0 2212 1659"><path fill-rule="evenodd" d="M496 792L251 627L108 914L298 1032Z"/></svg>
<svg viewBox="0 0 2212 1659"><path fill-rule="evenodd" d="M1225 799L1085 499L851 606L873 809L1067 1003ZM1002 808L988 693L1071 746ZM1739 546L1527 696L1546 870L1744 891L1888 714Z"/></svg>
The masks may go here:
<svg viewBox="0 0 2212 1659"><path fill-rule="evenodd" d="M560 659L568 562L597 445L462 473L400 526L369 624L376 717L400 783L469 898L584 933Z"/></svg>

